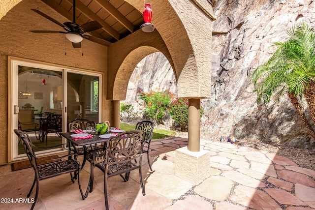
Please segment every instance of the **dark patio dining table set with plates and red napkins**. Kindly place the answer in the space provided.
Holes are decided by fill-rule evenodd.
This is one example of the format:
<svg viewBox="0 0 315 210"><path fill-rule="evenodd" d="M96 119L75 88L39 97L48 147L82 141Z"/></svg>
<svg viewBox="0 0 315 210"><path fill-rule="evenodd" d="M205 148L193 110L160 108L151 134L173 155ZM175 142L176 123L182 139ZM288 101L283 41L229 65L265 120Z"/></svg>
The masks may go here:
<svg viewBox="0 0 315 210"><path fill-rule="evenodd" d="M71 137L72 134L75 134L74 132L66 132L66 133L61 133L61 136L63 136L67 142L68 142L68 147L69 150L71 149L71 147L73 147L74 152L76 153L76 147L80 147L82 146L85 150L85 152L87 151L87 146L90 146L91 148L93 148L92 146L95 144L101 144L101 143L105 143L108 141L108 138L101 138L99 136L99 134L93 134L93 138L88 138L88 139L72 139L73 137ZM86 155L84 155L84 158L86 158ZM88 183L88 187L87 190L85 192L84 197L88 197L88 193L89 191L92 192L93 191L93 181L94 180L94 173L92 171L91 168L91 174L90 174L90 180Z"/></svg>

